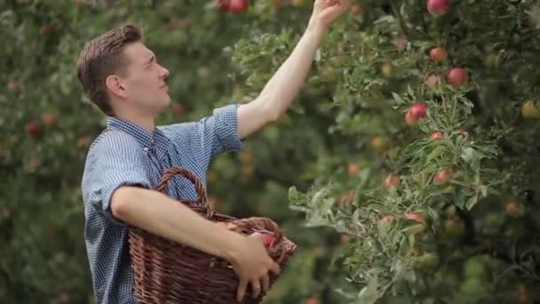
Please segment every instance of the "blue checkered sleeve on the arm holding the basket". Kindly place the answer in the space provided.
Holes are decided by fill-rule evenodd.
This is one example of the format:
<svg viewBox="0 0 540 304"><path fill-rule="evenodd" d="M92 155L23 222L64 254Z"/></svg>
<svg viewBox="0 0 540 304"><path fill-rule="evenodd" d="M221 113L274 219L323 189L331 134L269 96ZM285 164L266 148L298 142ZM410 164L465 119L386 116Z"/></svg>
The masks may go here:
<svg viewBox="0 0 540 304"><path fill-rule="evenodd" d="M125 226L111 212L111 197L121 186L151 188L144 170L144 152L139 143L127 134L114 133L101 140L92 151L92 163L83 196L96 212L102 212L115 224Z"/></svg>

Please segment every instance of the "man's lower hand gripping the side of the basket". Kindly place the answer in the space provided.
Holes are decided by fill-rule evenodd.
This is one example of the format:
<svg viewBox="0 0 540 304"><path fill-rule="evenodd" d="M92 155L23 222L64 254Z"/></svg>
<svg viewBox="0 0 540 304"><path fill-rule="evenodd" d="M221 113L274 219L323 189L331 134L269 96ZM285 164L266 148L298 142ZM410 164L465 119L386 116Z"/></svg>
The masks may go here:
<svg viewBox="0 0 540 304"><path fill-rule="evenodd" d="M233 253L231 264L240 279L236 293L238 301L242 301L248 284L251 284L252 297L257 298L261 290L267 292L270 288L268 271L275 275L280 273L279 265L268 256L263 244L263 235L254 233L245 237Z"/></svg>

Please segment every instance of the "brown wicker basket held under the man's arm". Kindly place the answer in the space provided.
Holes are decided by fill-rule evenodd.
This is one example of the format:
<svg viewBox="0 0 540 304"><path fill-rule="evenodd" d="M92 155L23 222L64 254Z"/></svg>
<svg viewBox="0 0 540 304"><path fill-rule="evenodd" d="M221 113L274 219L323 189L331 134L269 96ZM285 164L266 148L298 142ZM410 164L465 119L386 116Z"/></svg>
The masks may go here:
<svg viewBox="0 0 540 304"><path fill-rule="evenodd" d="M297 245L282 235L274 221L266 218L238 220L214 212L208 203L203 183L195 173L182 167L172 167L163 174L155 188L165 193L167 181L181 174L195 184L196 200L180 200L207 219L223 223L226 228L248 236L254 232L274 233L274 242L267 248L270 257L285 268ZM238 276L226 260L195 248L171 242L143 229L129 231L131 267L135 273L135 298L139 303L231 304L260 303L266 292L251 299L250 287L242 302L236 300ZM278 276L270 274L270 284Z"/></svg>

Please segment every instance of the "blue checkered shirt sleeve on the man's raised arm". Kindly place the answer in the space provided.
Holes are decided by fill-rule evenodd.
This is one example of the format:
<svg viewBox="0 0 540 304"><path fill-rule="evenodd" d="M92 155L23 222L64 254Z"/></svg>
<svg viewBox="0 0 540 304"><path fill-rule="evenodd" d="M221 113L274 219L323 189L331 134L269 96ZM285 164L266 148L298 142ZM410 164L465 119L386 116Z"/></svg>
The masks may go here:
<svg viewBox="0 0 540 304"><path fill-rule="evenodd" d="M221 152L239 151L245 140L238 134L238 105L215 108L212 116L195 123L171 124L163 128L171 140L180 144L199 162L209 164Z"/></svg>

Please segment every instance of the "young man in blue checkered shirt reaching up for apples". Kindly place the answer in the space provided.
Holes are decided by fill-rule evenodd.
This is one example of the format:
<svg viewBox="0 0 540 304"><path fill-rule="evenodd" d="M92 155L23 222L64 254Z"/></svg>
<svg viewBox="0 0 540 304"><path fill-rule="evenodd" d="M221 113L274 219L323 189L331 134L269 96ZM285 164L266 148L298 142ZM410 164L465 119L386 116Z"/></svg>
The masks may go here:
<svg viewBox="0 0 540 304"><path fill-rule="evenodd" d="M330 24L348 0L315 0L306 33L258 98L214 110L196 123L155 126L171 102L169 71L141 42L138 28L124 26L84 45L77 61L83 91L105 114L107 128L94 140L83 172L85 239L99 303L134 303L128 225L231 262L239 276L238 300L268 290L268 257L262 236L240 236L203 219L179 198L196 197L193 185L173 178L169 196L152 190L163 171L186 166L205 182L210 159L240 150L243 140L277 120L298 94Z"/></svg>

